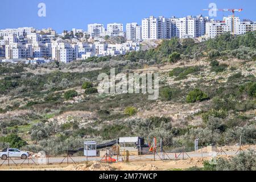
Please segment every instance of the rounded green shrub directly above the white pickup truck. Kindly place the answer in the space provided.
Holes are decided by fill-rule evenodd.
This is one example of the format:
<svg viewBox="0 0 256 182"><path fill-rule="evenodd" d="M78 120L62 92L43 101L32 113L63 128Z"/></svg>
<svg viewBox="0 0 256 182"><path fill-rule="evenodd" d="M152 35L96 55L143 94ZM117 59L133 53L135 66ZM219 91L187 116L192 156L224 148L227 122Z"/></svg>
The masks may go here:
<svg viewBox="0 0 256 182"><path fill-rule="evenodd" d="M11 148L20 148L27 145L27 142L17 134L9 134L6 137L0 137L0 142L9 143L9 147Z"/></svg>

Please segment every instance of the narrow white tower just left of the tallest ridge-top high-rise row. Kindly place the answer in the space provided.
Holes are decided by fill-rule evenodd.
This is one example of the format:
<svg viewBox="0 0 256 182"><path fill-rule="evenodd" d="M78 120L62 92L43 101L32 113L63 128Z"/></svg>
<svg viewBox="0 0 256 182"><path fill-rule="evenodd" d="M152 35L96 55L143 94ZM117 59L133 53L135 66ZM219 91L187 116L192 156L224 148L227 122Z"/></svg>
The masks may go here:
<svg viewBox="0 0 256 182"><path fill-rule="evenodd" d="M127 23L126 24L126 38L127 40L141 40L141 26L138 23Z"/></svg>

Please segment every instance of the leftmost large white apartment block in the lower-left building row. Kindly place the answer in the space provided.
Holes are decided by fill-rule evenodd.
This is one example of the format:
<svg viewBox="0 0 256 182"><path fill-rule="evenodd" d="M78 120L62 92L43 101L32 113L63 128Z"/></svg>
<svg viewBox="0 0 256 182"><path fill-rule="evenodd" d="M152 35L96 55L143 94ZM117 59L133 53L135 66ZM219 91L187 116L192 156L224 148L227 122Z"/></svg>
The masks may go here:
<svg viewBox="0 0 256 182"><path fill-rule="evenodd" d="M33 57L32 45L13 43L5 46L6 59L28 59Z"/></svg>

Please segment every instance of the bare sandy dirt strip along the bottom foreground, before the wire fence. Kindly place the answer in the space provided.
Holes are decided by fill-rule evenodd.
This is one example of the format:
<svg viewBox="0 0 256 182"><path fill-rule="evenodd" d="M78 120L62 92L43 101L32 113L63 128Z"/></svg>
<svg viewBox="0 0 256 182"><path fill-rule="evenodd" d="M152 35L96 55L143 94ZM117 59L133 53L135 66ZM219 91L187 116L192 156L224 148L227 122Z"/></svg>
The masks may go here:
<svg viewBox="0 0 256 182"><path fill-rule="evenodd" d="M203 160L192 158L187 160L171 160L156 162L119 162L119 163L99 163L79 165L51 165L51 166L18 166L0 167L0 171L166 171L175 169L186 169L189 167L203 167Z"/></svg>

